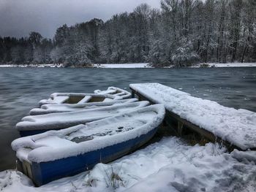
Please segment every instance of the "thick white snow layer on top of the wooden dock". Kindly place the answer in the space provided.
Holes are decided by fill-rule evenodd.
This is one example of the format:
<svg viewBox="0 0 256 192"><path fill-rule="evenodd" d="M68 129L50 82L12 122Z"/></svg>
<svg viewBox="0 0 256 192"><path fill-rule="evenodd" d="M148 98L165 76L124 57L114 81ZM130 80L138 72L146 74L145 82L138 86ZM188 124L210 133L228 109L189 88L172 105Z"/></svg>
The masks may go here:
<svg viewBox="0 0 256 192"><path fill-rule="evenodd" d="M159 83L131 84L130 88L243 150L256 147L256 112L224 107Z"/></svg>

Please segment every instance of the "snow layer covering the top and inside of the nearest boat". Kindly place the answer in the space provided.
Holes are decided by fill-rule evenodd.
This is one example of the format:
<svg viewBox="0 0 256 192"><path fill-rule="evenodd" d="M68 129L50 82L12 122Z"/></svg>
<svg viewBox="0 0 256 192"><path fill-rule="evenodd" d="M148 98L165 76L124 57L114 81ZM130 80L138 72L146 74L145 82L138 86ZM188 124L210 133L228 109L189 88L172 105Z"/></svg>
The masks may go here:
<svg viewBox="0 0 256 192"><path fill-rule="evenodd" d="M155 104L86 125L15 139L12 149L20 161L54 161L135 139L157 128L164 118L164 105ZM87 141L73 141L89 137Z"/></svg>

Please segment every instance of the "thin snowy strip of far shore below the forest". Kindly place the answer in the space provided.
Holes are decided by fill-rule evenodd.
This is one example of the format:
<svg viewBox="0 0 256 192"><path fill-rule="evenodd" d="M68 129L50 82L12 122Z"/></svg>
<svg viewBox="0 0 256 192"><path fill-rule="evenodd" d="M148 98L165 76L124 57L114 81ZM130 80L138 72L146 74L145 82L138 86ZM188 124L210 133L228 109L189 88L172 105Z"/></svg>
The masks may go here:
<svg viewBox="0 0 256 192"><path fill-rule="evenodd" d="M0 67L71 67L76 68L77 66L66 66L64 64L0 64ZM88 66L78 66L82 68L108 68L108 69L121 69L121 68L177 68L177 66L163 66L163 67L154 67L148 63L140 63L140 64L90 64ZM256 67L256 63L201 63L194 64L192 66L184 66L183 68L208 68L208 67Z"/></svg>

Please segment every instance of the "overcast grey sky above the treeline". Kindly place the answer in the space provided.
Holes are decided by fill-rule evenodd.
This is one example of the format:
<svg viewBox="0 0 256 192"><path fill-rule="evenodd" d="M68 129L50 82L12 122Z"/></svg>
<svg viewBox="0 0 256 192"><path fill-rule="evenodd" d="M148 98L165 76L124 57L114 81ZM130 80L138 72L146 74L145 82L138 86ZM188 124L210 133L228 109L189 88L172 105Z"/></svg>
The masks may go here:
<svg viewBox="0 0 256 192"><path fill-rule="evenodd" d="M141 3L159 8L160 0L0 0L0 36L24 37L37 31L52 38L56 28L92 18L108 20Z"/></svg>

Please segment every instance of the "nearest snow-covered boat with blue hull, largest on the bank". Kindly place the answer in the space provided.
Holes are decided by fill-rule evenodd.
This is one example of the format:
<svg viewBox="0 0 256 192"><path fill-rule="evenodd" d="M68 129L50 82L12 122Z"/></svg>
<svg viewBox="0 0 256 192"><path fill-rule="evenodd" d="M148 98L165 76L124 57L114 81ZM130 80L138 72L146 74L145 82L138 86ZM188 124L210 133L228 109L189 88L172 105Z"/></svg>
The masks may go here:
<svg viewBox="0 0 256 192"><path fill-rule="evenodd" d="M155 104L86 125L15 139L18 169L36 185L91 169L132 152L148 142L165 118Z"/></svg>

